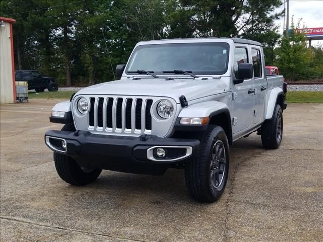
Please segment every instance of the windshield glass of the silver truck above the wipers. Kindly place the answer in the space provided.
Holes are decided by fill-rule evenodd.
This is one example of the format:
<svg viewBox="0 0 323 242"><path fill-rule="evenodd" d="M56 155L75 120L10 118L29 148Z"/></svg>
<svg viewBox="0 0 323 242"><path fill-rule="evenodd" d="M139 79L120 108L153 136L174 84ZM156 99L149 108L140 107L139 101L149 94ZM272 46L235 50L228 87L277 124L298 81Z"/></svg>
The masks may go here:
<svg viewBox="0 0 323 242"><path fill-rule="evenodd" d="M167 75L163 71L183 70L196 75L221 75L228 69L228 58L228 43L140 45L131 55L126 73L146 70Z"/></svg>

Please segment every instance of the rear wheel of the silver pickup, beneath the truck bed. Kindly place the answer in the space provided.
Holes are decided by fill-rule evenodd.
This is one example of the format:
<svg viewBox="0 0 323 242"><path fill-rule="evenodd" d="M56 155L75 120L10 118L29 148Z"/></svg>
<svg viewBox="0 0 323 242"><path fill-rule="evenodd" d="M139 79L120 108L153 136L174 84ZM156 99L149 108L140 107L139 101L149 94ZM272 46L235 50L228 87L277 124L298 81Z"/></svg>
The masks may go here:
<svg viewBox="0 0 323 242"><path fill-rule="evenodd" d="M266 149L277 149L283 137L283 111L276 105L272 119L266 120L261 126L261 141Z"/></svg>

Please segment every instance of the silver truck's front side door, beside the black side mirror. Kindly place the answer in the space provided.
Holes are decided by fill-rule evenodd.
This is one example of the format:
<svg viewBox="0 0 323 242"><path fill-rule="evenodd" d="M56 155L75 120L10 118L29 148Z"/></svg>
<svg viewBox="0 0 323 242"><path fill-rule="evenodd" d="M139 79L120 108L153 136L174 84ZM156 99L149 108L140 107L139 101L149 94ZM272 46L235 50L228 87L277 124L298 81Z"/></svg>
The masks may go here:
<svg viewBox="0 0 323 242"><path fill-rule="evenodd" d="M234 78L238 78L238 65L240 63L249 63L248 45L239 45L235 48L234 53ZM233 133L239 135L239 132L248 130L253 124L253 94L249 91L253 90L253 80L245 79L243 83L233 86L232 103L233 115L232 130Z"/></svg>

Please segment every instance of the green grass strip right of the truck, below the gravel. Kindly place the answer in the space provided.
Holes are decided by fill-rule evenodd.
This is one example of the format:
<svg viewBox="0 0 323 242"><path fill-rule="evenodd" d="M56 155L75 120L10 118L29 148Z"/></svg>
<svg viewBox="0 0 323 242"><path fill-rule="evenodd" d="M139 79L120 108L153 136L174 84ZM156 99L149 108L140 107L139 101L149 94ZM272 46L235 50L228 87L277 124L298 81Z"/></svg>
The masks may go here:
<svg viewBox="0 0 323 242"><path fill-rule="evenodd" d="M323 103L323 92L287 92L286 101L287 103Z"/></svg>

